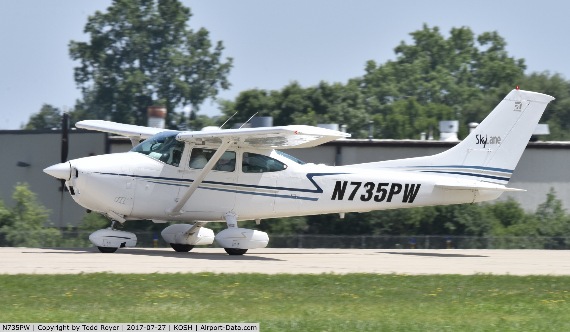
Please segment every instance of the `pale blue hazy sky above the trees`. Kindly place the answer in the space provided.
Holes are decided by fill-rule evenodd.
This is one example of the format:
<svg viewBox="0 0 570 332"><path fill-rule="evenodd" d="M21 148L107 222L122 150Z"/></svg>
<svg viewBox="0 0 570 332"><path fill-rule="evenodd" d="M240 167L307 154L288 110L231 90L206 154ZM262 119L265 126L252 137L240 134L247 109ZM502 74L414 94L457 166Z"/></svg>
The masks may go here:
<svg viewBox="0 0 570 332"><path fill-rule="evenodd" d="M563 1L258 1L182 0L193 17L222 40L224 56L234 58L234 99L251 88L280 89L296 80L345 83L364 74L368 60L395 59L393 48L411 42L409 32L438 26L469 26L475 34L498 31L507 51L524 58L527 73L559 72L570 77L570 2ZM88 15L104 11L109 0L18 0L0 2L0 130L19 129L43 103L73 106L81 97L68 55L70 40L88 41ZM524 88L524 87L522 87ZM556 97L556 96L555 96ZM220 114L206 101L200 114Z"/></svg>

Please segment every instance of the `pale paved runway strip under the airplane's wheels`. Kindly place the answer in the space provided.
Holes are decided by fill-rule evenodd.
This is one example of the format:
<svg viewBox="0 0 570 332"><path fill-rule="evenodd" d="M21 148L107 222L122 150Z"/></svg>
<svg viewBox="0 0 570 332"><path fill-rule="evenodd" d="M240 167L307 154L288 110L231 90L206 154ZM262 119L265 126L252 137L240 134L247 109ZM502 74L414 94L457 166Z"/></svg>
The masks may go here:
<svg viewBox="0 0 570 332"><path fill-rule="evenodd" d="M250 249L188 253L169 248L0 248L0 273L397 273L570 274L565 250Z"/></svg>

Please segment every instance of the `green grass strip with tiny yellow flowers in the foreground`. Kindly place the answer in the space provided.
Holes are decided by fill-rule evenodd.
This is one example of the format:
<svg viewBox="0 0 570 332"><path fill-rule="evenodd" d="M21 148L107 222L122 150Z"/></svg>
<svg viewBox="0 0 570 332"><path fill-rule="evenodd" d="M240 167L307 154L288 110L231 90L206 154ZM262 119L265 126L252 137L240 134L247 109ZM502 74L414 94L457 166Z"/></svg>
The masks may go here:
<svg viewBox="0 0 570 332"><path fill-rule="evenodd" d="M570 330L570 277L0 275L2 322L259 322L262 331Z"/></svg>

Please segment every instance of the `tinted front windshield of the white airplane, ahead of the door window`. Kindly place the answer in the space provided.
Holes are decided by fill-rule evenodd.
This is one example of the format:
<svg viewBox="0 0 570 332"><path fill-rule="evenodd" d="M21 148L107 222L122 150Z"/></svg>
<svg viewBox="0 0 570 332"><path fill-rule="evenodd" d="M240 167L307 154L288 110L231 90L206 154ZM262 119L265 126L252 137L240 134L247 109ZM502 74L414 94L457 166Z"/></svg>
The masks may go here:
<svg viewBox="0 0 570 332"><path fill-rule="evenodd" d="M135 146L131 151L143 153L169 165L180 165L184 143L176 140L178 132L162 132Z"/></svg>

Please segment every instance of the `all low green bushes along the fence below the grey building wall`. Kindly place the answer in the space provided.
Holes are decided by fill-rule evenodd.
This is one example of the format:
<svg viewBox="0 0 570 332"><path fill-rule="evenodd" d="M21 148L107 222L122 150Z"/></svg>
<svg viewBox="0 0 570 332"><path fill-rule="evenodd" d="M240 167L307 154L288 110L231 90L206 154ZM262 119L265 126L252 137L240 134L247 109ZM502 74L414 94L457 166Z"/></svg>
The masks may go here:
<svg viewBox="0 0 570 332"><path fill-rule="evenodd" d="M105 216L92 212L83 217L78 227L54 228L49 218L51 211L38 202L27 183L14 186L12 198L15 200L13 207L0 198L0 245L5 247L87 247L89 232L111 224ZM129 221L122 230L160 234L170 224L173 223ZM338 214L326 214L263 219L259 225L248 220L240 222L239 226L271 234L565 236L570 234L570 215L551 189L535 212L524 211L519 203L507 198L492 204L352 212L344 219ZM226 224L209 223L207 227L219 232ZM62 231L71 234L64 236Z"/></svg>

